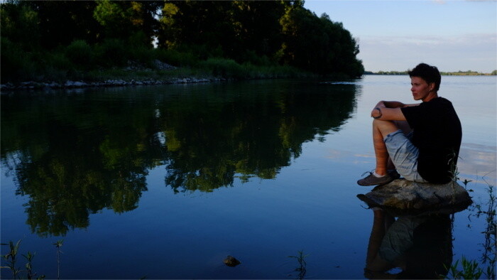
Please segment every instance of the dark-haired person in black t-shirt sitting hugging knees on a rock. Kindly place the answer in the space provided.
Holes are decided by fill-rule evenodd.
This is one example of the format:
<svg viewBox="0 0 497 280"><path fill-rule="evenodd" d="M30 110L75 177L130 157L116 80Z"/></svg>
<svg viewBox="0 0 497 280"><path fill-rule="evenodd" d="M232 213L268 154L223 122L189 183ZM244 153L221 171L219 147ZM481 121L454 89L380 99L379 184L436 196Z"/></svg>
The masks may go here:
<svg viewBox="0 0 497 280"><path fill-rule="evenodd" d="M376 168L357 181L359 185L383 185L399 174L419 183L448 183L454 176L461 122L452 103L438 96L440 73L435 66L421 63L409 76L413 98L422 103L376 104L371 111Z"/></svg>

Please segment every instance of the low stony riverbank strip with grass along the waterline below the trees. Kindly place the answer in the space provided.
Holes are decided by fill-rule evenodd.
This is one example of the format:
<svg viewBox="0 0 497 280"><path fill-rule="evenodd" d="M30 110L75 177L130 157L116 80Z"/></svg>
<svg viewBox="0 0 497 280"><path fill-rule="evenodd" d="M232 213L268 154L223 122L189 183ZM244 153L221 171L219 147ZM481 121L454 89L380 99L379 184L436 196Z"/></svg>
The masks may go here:
<svg viewBox="0 0 497 280"><path fill-rule="evenodd" d="M1 91L67 89L82 87L125 87L140 85L187 84L222 82L228 80L280 79L290 77L317 77L317 75L290 66L255 66L233 60L209 59L200 67L176 67L154 60L153 68L129 60L126 67L72 72L65 79L50 80L40 75L34 80L6 82Z"/></svg>

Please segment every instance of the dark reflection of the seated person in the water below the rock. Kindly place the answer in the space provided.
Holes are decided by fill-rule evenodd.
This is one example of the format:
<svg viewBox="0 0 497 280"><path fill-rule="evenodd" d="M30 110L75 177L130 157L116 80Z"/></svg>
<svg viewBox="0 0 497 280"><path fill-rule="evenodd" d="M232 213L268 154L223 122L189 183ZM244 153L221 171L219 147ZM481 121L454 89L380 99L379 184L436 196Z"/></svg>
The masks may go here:
<svg viewBox="0 0 497 280"><path fill-rule="evenodd" d="M439 279L452 264L452 221L449 215L404 216L397 220L373 210L368 244L368 279ZM398 267L399 273L388 273Z"/></svg>

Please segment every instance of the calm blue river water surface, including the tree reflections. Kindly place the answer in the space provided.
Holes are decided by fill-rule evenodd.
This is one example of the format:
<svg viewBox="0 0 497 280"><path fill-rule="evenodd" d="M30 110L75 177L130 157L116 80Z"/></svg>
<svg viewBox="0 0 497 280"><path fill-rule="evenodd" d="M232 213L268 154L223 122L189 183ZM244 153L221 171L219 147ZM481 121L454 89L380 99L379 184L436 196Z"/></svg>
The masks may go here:
<svg viewBox="0 0 497 280"><path fill-rule="evenodd" d="M407 76L1 95L1 242L64 279L361 279L372 212L371 107L413 103ZM442 77L461 119L459 178L496 185L496 77ZM485 217L454 217L480 259ZM5 247L1 254L5 254ZM223 264L231 255L242 263ZM21 265L23 262L21 262ZM10 277L4 271L2 277Z"/></svg>

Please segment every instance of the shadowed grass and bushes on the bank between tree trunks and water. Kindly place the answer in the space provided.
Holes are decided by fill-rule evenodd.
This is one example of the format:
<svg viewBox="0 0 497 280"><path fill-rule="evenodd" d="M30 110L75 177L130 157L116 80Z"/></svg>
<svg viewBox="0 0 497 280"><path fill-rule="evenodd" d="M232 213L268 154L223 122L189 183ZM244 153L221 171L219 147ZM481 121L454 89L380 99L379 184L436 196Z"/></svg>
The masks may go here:
<svg viewBox="0 0 497 280"><path fill-rule="evenodd" d="M56 50L25 51L8 39L1 40L1 84L80 80L170 80L175 78L268 79L315 77L288 65L278 65L266 57L237 63L218 58L208 51L180 52L127 45L116 39L89 45L73 41Z"/></svg>

